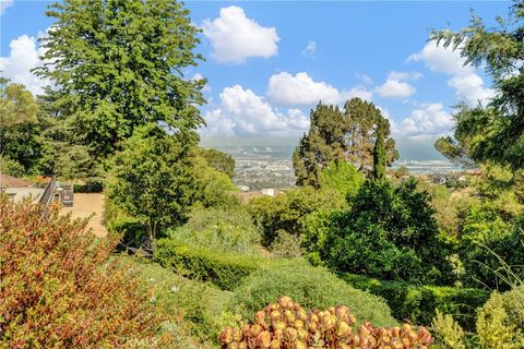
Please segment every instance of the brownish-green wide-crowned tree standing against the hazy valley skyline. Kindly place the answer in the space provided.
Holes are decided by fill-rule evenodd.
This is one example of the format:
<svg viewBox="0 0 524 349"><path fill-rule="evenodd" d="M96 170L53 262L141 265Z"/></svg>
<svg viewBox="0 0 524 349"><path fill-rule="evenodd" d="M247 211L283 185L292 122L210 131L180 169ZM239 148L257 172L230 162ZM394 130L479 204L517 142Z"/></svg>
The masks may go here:
<svg viewBox="0 0 524 349"><path fill-rule="evenodd" d="M395 141L391 139L390 123L372 103L353 98L341 110L319 104L311 110L308 134L293 155L297 184L319 186L319 171L334 160L345 160L358 170L370 173L377 130L381 125L385 165L398 158Z"/></svg>

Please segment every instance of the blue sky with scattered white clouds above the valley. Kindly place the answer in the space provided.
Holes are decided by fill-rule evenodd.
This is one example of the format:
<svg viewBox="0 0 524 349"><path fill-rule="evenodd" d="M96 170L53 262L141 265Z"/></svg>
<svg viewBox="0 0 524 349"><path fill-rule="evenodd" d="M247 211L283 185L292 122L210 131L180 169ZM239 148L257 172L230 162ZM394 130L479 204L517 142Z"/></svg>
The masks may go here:
<svg viewBox="0 0 524 349"><path fill-rule="evenodd" d="M39 64L36 38L52 24L48 1L3 1L3 75L37 93L28 70ZM492 96L481 70L455 51L427 43L431 28L457 29L471 10L489 25L510 1L225 2L189 1L203 29L206 60L186 72L209 83L202 107L204 144L295 144L319 99L342 105L358 96L390 118L404 158L432 158L449 133L457 101Z"/></svg>

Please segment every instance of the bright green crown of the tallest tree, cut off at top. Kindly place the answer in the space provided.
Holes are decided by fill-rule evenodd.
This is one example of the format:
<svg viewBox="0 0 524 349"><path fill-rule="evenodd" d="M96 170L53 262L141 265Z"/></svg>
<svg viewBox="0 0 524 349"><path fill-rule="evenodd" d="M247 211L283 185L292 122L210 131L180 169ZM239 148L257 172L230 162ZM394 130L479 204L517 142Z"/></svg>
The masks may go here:
<svg viewBox="0 0 524 349"><path fill-rule="evenodd" d="M120 148L136 127L163 124L196 137L204 80L183 79L196 65L198 29L175 0L64 0L41 39L57 103L67 105L83 144L97 157Z"/></svg>

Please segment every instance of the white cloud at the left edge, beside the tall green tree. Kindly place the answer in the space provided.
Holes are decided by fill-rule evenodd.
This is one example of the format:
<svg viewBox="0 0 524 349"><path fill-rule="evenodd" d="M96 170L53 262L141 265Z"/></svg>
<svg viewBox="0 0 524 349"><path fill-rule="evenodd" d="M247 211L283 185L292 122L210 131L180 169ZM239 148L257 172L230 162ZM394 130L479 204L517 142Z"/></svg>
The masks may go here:
<svg viewBox="0 0 524 349"><path fill-rule="evenodd" d="M37 39L33 36L21 35L13 39L9 47L8 57L0 57L0 71L2 76L13 83L23 84L34 95L41 94L43 87L49 82L37 77L31 72L32 69L41 65L39 57L44 53L37 47Z"/></svg>

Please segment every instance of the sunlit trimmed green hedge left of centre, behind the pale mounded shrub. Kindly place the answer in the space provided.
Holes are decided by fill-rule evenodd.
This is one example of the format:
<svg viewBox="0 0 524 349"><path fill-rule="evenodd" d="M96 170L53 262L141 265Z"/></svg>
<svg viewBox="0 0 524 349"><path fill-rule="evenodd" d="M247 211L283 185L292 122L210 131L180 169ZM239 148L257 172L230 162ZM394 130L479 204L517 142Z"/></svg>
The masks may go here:
<svg viewBox="0 0 524 349"><path fill-rule="evenodd" d="M246 277L263 266L294 263L293 260L269 260L259 256L217 253L212 250L184 245L176 240L158 240L155 261L190 279L209 281L222 290L233 291Z"/></svg>

